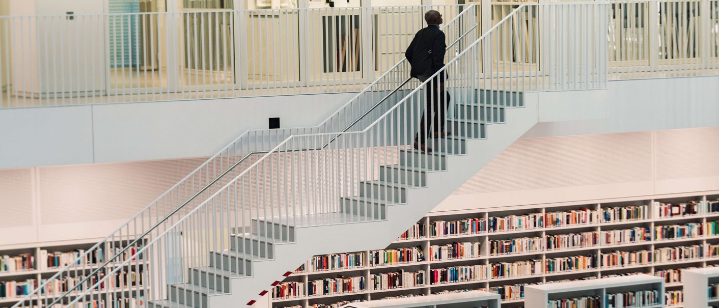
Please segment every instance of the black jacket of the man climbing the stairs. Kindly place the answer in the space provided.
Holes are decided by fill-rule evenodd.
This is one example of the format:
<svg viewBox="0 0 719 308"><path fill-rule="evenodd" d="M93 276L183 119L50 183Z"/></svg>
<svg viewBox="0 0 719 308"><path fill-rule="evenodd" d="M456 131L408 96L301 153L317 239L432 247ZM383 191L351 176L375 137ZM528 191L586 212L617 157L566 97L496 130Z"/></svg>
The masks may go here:
<svg viewBox="0 0 719 308"><path fill-rule="evenodd" d="M419 30L407 47L405 57L412 65L410 75L432 75L444 67L446 42L439 26L431 24ZM440 78L444 79L444 76Z"/></svg>

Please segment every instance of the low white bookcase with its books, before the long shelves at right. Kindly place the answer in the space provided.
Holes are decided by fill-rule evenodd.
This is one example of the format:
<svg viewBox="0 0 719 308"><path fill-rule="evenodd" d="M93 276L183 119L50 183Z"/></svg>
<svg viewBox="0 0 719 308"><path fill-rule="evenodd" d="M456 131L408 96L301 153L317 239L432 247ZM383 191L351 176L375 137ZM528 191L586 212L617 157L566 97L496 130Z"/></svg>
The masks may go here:
<svg viewBox="0 0 719 308"><path fill-rule="evenodd" d="M569 281L527 286L524 294L526 296L526 308L663 308L664 303L661 301L664 300L664 279L639 274L586 281Z"/></svg>

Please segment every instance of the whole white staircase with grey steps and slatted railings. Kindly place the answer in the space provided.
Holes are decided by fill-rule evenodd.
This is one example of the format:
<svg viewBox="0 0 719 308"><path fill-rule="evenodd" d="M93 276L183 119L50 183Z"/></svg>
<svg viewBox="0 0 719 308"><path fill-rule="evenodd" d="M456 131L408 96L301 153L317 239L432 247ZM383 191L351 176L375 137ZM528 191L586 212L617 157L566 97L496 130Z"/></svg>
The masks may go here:
<svg viewBox="0 0 719 308"><path fill-rule="evenodd" d="M237 307L251 304L312 255L385 247L536 124L536 102L525 102L523 90L557 81L565 87L572 80L567 77L579 74L566 63L544 72L518 63L517 54L527 50L503 40L521 34L518 22L546 16L551 23L572 5L520 6L464 44L437 73L450 76L452 100L441 120L452 136L429 139L433 152L412 149L433 81L409 83L411 92L387 99L395 93L388 89L406 84L408 67L400 63L319 127L244 134L198 168L199 175L188 176L101 242L122 243L104 264L68 266L49 279L81 276L82 287L60 296L36 290L15 307L99 307L104 301L121 308L116 303L126 299L141 299L150 308ZM540 46L557 51L549 41ZM539 48L528 52L548 53ZM604 85L596 63L572 63L590 76L578 80L577 89ZM377 104L385 101L391 104ZM263 141L243 148L247 140ZM202 177L204 171L212 176ZM196 182L188 180L194 176ZM142 283L114 279L131 270Z"/></svg>

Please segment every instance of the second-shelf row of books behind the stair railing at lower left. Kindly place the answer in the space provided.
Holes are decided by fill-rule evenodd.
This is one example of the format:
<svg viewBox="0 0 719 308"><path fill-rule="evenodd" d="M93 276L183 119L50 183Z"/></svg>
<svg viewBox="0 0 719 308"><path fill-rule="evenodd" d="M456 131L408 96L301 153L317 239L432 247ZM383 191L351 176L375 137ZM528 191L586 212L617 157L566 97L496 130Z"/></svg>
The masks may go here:
<svg viewBox="0 0 719 308"><path fill-rule="evenodd" d="M66 291L70 291L70 289L73 289L78 284L80 284L80 286L75 288L75 290L87 290L98 283L98 286L95 287L96 290L139 287L144 285L145 271L140 271L139 273L136 271L118 271L114 273L114 277L107 279L104 279L104 273L99 273L83 281L85 278L86 276L80 275L75 277L64 276L52 280L42 279L40 284L45 284L46 282L47 284L42 286L40 294L63 294Z"/></svg>

